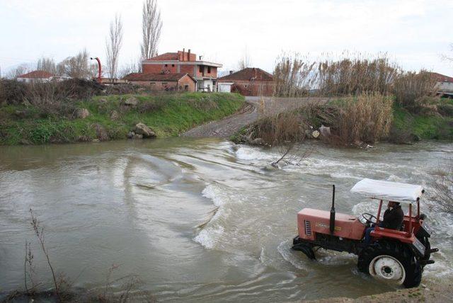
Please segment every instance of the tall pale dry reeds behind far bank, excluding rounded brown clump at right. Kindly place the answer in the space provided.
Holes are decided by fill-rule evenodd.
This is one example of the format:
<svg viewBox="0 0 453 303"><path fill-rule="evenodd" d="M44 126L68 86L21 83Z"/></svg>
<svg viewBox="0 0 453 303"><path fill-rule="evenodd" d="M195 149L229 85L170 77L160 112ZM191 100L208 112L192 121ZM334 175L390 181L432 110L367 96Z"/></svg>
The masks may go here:
<svg viewBox="0 0 453 303"><path fill-rule="evenodd" d="M356 96L391 93L401 69L389 57L344 53L342 59L328 55L310 60L299 54L280 55L274 69L275 96Z"/></svg>

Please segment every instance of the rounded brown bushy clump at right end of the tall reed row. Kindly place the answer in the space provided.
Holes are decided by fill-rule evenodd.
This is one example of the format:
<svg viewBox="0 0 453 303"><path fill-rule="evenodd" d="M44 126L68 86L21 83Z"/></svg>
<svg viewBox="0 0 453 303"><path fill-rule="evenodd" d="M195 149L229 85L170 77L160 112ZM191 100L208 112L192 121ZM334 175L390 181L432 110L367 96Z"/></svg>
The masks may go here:
<svg viewBox="0 0 453 303"><path fill-rule="evenodd" d="M418 113L430 103L427 97L435 93L436 85L436 80L425 70L403 73L394 82L395 101L412 113Z"/></svg>

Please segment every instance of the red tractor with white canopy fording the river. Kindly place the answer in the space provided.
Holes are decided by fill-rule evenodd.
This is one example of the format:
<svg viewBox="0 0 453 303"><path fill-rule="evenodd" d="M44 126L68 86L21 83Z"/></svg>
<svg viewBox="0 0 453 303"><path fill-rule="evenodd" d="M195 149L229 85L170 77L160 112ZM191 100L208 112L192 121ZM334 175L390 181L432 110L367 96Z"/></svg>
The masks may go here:
<svg viewBox="0 0 453 303"><path fill-rule="evenodd" d="M354 216L335 211L335 185L331 211L304 208L297 214L299 234L293 239L292 249L302 251L308 258L316 259L314 248L346 251L356 254L357 267L377 280L394 282L405 287L420 285L423 268L432 264L430 228L426 216L420 214L420 196L425 192L420 185L363 179L354 185L352 193L365 195L379 202L377 216L364 213L362 221ZM408 206L401 229L379 227L384 201L399 202ZM413 207L417 207L413 210ZM416 214L414 215L414 212ZM371 243L364 241L365 231Z"/></svg>

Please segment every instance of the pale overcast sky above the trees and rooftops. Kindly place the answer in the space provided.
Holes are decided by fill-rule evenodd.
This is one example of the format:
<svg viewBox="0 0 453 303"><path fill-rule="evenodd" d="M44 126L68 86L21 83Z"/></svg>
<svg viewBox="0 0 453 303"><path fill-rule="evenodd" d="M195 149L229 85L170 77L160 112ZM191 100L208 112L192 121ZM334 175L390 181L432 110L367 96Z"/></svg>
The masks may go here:
<svg viewBox="0 0 453 303"><path fill-rule="evenodd" d="M253 66L273 70L282 51L387 52L406 69L453 76L453 0L159 0L159 54L185 47L235 69L245 50ZM122 63L139 56L142 0L0 0L0 68L39 57L62 60L86 47L105 57L108 26L120 13Z"/></svg>

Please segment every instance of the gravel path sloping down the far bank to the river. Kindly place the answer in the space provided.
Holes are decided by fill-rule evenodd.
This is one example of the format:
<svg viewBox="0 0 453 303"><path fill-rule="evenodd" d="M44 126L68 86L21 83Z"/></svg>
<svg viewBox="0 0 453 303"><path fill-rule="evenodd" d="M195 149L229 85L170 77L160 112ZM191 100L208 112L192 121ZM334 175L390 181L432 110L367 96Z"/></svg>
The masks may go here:
<svg viewBox="0 0 453 303"><path fill-rule="evenodd" d="M246 97L246 105L238 113L212 121L183 133L185 137L229 137L251 122L268 115L301 107L306 103L325 103L326 98Z"/></svg>

